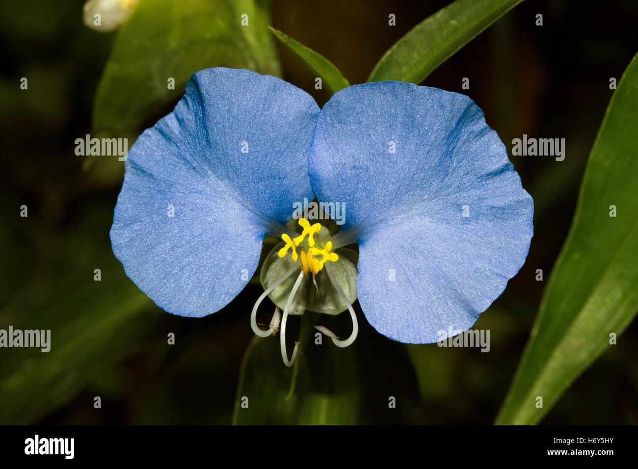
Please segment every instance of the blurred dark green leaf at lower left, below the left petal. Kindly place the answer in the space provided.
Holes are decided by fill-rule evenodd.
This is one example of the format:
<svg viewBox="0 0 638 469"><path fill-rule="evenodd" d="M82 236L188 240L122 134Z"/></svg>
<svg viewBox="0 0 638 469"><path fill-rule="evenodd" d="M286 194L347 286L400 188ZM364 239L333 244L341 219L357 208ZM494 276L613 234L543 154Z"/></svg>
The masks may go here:
<svg viewBox="0 0 638 469"><path fill-rule="evenodd" d="M96 265L99 288L89 283ZM77 267L51 285L34 281L0 313L0 324L14 329L52 331L50 352L19 348L0 362L0 394L11 403L0 406L0 423L33 422L64 405L103 366L136 352L156 323L147 313L152 302L122 278L108 252Z"/></svg>

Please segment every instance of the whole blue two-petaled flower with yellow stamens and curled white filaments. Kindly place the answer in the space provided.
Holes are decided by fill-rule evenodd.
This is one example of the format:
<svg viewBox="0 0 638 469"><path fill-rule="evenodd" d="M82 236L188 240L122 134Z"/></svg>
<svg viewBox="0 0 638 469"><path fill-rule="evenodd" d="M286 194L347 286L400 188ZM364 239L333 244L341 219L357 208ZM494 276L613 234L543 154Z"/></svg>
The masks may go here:
<svg viewBox="0 0 638 469"><path fill-rule="evenodd" d="M305 218L297 232L286 226L295 203L315 196L346 207L338 233ZM269 336L281 325L290 366L297 345L288 360L286 320L317 308L308 285L339 295L316 310L350 311L348 339L317 326L338 346L357 336L357 296L370 324L398 341L468 329L523 265L532 214L505 147L466 96L370 83L319 111L278 78L214 68L195 73L174 112L131 148L111 239L158 306L204 316L248 283L265 235L281 237L251 326ZM256 311L268 295L283 315L276 309L263 330ZM316 297L329 302L325 291Z"/></svg>

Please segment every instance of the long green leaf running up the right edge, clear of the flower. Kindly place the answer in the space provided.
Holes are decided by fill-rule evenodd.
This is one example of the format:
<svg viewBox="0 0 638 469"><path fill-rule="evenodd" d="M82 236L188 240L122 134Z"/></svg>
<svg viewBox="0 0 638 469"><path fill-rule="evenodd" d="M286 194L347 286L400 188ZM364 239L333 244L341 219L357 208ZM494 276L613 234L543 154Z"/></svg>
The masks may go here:
<svg viewBox="0 0 638 469"><path fill-rule="evenodd" d="M572 228L497 424L540 421L638 311L637 108L638 55L591 149Z"/></svg>

